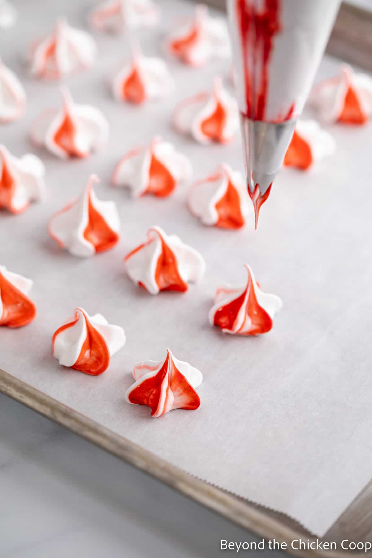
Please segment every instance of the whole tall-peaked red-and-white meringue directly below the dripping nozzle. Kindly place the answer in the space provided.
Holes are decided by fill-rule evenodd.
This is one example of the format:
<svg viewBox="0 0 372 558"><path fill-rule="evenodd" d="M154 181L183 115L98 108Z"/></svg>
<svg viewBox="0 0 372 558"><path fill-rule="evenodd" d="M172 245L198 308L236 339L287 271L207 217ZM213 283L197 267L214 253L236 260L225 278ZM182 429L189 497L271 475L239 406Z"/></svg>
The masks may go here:
<svg viewBox="0 0 372 558"><path fill-rule="evenodd" d="M209 312L211 325L233 335L258 335L273 327L274 315L281 309L282 301L276 295L260 290L249 266L247 286L231 288L229 285L216 291L215 305Z"/></svg>

